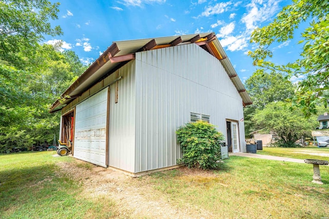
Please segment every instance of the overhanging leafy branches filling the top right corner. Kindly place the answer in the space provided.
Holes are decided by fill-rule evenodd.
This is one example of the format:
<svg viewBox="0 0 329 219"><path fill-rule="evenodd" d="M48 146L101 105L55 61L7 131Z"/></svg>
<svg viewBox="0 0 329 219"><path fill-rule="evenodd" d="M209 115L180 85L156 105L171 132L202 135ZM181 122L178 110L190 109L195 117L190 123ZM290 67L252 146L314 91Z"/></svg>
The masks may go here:
<svg viewBox="0 0 329 219"><path fill-rule="evenodd" d="M302 22L311 20L301 34L303 44L300 58L294 63L278 65L268 61L272 57L270 46L294 37ZM282 9L268 26L257 28L251 34L251 42L258 48L249 55L253 65L268 71L285 72L287 77L305 76L298 84L293 106L299 107L306 116L317 113L317 104L325 107L329 102L329 1L293 0Z"/></svg>

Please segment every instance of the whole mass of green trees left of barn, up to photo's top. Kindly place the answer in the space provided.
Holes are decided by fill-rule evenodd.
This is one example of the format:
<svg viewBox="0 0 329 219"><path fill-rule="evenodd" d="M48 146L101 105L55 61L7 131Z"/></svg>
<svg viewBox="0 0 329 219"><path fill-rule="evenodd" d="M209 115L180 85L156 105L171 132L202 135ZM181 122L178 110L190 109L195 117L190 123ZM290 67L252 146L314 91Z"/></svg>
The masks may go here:
<svg viewBox="0 0 329 219"><path fill-rule="evenodd" d="M73 51L41 45L52 28L59 3L46 0L0 1L0 152L51 143L59 114L50 104L84 72Z"/></svg>

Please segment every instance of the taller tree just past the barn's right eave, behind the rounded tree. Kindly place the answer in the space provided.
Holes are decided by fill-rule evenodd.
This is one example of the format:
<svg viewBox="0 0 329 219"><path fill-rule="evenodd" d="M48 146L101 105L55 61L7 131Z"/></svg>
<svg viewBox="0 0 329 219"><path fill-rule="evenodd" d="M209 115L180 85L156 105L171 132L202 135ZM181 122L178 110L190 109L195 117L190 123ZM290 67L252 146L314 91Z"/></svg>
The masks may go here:
<svg viewBox="0 0 329 219"><path fill-rule="evenodd" d="M244 108L245 135L249 137L251 131L255 131L252 116L256 109L262 110L272 102L286 101L294 96L295 87L282 74L277 72L254 72L245 83L245 87L253 104Z"/></svg>

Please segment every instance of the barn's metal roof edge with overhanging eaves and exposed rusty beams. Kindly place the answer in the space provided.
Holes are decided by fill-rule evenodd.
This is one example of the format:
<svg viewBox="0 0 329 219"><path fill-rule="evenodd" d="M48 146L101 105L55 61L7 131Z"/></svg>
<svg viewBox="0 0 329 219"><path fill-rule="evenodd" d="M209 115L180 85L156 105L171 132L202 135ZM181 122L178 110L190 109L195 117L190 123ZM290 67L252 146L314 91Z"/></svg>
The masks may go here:
<svg viewBox="0 0 329 219"><path fill-rule="evenodd" d="M50 107L50 112L56 112L81 95L85 90L92 87L102 78L112 74L124 64L135 57L136 52L160 49L169 46L179 46L195 43L212 54L222 63L232 83L239 91L243 104L252 104L251 98L246 92L240 78L237 76L229 58L218 41L215 33L199 33L181 36L167 36L148 39L135 39L131 41L118 41L107 50L80 75L80 77L61 95L64 101L57 99Z"/></svg>

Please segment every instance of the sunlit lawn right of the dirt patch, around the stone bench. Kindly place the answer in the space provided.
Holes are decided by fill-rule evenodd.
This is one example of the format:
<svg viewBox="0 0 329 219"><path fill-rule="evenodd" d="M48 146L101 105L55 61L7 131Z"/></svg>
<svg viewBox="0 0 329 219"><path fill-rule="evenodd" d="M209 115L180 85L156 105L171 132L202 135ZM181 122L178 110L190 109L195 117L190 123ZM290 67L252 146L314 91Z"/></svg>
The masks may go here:
<svg viewBox="0 0 329 219"><path fill-rule="evenodd" d="M311 183L312 166L231 156L213 175L179 169L151 175L151 185L174 205L209 211L213 218L326 218L329 168L324 185Z"/></svg>

